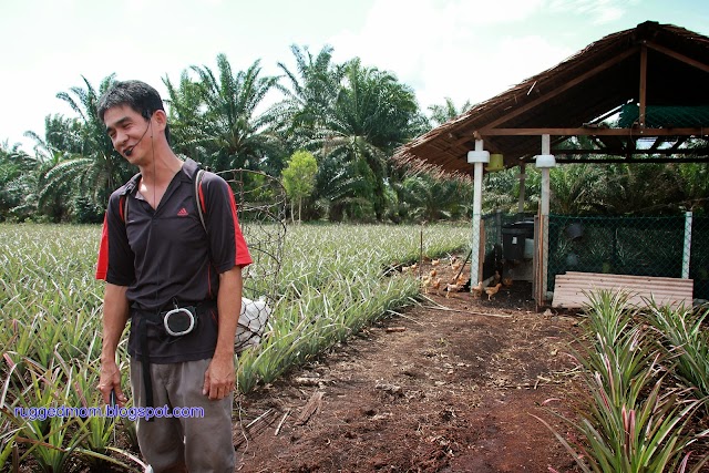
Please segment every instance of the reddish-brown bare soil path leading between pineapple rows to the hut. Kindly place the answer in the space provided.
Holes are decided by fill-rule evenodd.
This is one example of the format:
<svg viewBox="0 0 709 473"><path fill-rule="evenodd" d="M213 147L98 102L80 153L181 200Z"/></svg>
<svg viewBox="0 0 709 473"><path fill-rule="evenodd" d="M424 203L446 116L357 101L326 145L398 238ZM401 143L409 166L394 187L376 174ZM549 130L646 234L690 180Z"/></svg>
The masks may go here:
<svg viewBox="0 0 709 473"><path fill-rule="evenodd" d="M444 294L238 399L237 471L576 471L534 415L564 435L549 409L575 415L578 319L528 282Z"/></svg>

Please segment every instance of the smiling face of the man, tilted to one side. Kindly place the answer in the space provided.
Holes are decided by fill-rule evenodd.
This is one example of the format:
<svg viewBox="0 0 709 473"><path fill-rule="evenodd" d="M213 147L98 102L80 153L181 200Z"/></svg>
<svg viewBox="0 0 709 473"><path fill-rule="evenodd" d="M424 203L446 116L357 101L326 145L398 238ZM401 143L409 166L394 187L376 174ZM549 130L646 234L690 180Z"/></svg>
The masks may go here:
<svg viewBox="0 0 709 473"><path fill-rule="evenodd" d="M150 140L143 140L151 122L129 105L114 106L103 114L103 123L115 151L130 163L140 164L150 150Z"/></svg>

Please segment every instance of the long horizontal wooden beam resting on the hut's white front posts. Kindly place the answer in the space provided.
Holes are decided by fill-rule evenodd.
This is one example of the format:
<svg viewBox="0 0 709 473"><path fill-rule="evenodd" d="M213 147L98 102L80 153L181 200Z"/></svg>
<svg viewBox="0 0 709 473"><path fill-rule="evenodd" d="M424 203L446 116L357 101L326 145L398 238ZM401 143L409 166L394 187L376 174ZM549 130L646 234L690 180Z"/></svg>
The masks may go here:
<svg viewBox="0 0 709 473"><path fill-rule="evenodd" d="M492 128L480 132L485 136L709 136L709 128Z"/></svg>

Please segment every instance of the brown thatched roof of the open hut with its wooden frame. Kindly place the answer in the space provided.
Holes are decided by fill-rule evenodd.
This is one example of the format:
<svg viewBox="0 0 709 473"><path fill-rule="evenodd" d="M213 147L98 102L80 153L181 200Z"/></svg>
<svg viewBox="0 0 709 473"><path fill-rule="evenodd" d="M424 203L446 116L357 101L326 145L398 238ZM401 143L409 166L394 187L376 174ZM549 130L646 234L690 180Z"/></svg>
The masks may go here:
<svg viewBox="0 0 709 473"><path fill-rule="evenodd" d="M681 156L707 148L682 147L690 137L709 135L709 38L671 24L645 22L609 34L562 63L474 106L459 117L417 137L394 158L469 175L466 154L475 140L501 153L505 167L533 162L540 136L554 145L587 135L590 152L607 161L633 161L637 154ZM623 127L602 122L623 112ZM629 119L628 119L629 116ZM635 120L633 120L635 116ZM656 137L649 146L640 138ZM667 151L668 145L671 150ZM557 162L583 162L583 151ZM655 158L655 162L658 160Z"/></svg>

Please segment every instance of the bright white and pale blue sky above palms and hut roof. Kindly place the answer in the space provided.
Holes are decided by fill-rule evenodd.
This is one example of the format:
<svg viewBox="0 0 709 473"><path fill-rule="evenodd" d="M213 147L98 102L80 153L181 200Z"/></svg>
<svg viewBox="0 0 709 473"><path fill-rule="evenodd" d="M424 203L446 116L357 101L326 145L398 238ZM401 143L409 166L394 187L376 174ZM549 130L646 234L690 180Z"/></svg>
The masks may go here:
<svg viewBox="0 0 709 473"><path fill-rule="evenodd" d="M393 72L420 105L486 100L607 34L651 20L709 35L706 0L6 0L0 7L0 142L31 141L59 92L109 74L164 93L191 65L263 74L291 44ZM275 93L270 100L275 100Z"/></svg>

